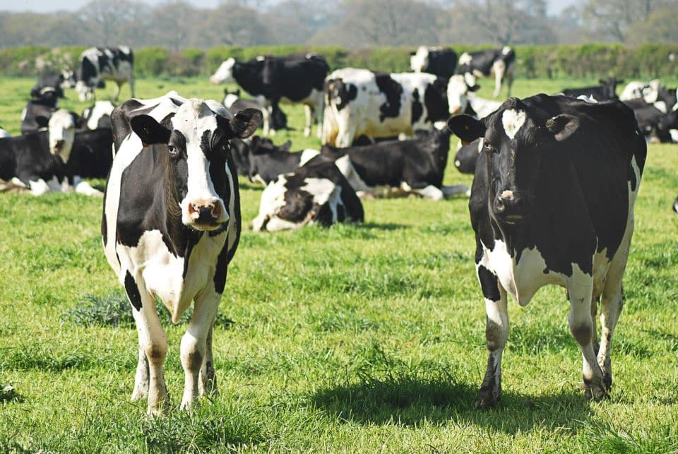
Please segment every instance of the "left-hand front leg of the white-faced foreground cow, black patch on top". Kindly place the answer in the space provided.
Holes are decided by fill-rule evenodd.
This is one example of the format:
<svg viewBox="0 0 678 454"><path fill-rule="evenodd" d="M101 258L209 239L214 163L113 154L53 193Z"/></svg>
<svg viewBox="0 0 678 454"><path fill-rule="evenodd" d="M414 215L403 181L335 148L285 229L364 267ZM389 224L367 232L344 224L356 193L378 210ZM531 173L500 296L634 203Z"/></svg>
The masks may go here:
<svg viewBox="0 0 678 454"><path fill-rule="evenodd" d="M125 279L125 290L133 309L132 315L136 322L139 334L139 349L143 351L148 361L148 413L162 414L169 407L169 395L165 385L165 376L162 374L162 365L165 364L167 357L167 334L162 329L160 318L157 317L155 310L155 299L148 294L146 289L137 284L128 274ZM137 309L138 308L138 309ZM142 391L145 388L144 371L140 364L137 364L137 375L135 378L134 392L132 398L141 398ZM145 365L143 365L145 368Z"/></svg>

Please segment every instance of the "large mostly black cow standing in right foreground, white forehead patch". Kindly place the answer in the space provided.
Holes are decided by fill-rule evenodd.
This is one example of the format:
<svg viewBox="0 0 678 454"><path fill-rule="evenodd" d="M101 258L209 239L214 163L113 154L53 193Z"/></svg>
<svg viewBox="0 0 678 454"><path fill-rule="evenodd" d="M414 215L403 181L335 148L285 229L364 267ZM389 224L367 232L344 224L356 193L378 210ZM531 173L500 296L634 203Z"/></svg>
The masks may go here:
<svg viewBox="0 0 678 454"><path fill-rule="evenodd" d="M511 98L482 121L457 116L448 125L463 141L483 138L469 201L489 350L478 404L501 398L506 294L525 306L547 284L567 289L585 396L603 398L647 154L633 112L618 101L536 95ZM592 315L601 296L598 348Z"/></svg>

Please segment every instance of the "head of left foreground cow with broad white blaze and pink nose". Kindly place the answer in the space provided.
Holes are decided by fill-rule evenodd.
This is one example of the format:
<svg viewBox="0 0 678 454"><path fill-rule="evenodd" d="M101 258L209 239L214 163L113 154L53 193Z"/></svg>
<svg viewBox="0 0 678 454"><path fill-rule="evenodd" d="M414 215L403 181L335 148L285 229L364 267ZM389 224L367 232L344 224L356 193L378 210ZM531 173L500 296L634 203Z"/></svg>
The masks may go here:
<svg viewBox="0 0 678 454"><path fill-rule="evenodd" d="M132 130L145 145L168 160L169 188L179 203L182 223L214 230L227 222L232 180L227 165L231 138L246 138L261 125L261 112L244 109L222 117L202 100L184 102L173 117L158 123L148 115L133 117Z"/></svg>

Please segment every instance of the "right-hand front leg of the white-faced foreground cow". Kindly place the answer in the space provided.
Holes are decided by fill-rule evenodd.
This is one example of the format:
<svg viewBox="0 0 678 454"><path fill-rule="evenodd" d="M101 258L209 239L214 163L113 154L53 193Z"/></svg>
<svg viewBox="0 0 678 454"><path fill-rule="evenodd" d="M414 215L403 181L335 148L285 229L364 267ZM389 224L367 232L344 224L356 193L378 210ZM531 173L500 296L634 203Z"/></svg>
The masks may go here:
<svg viewBox="0 0 678 454"><path fill-rule="evenodd" d="M195 298L195 307L189 328L182 337L182 366L184 366L184 398L182 410L189 410L198 397L198 378L206 360L207 337L214 323L221 295L206 289ZM206 377L207 378L207 377Z"/></svg>

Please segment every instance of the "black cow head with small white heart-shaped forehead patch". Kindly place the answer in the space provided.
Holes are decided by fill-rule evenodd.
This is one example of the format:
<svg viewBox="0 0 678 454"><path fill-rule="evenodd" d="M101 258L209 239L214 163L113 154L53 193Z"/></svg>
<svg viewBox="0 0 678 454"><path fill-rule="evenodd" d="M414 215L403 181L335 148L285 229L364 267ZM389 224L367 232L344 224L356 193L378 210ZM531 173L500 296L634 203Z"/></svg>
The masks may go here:
<svg viewBox="0 0 678 454"><path fill-rule="evenodd" d="M530 212L542 155L568 140L579 120L568 114L549 117L510 98L489 117L479 121L458 115L448 120L448 127L465 142L483 138L490 211L498 222L513 225Z"/></svg>

